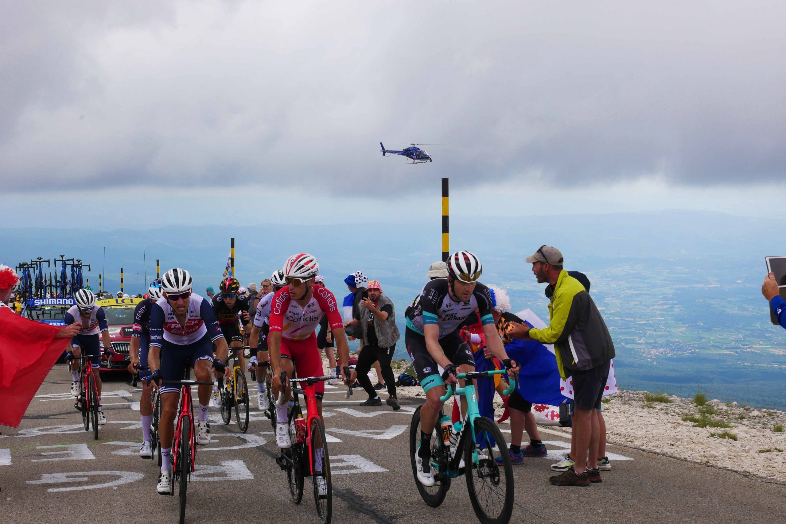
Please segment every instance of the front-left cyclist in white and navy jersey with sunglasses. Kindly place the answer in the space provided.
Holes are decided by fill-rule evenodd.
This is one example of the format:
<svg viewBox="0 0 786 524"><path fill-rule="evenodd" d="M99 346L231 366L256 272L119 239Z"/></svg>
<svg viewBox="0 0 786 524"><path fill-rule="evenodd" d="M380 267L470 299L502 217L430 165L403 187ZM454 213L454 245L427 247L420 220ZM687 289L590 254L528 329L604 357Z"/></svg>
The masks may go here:
<svg viewBox="0 0 786 524"><path fill-rule="evenodd" d="M156 382L161 392L159 438L161 443L161 473L156 491L168 495L172 489L172 434L175 412L178 409L180 388L173 384L161 387L161 380L182 380L185 361L193 366L198 381L211 380L211 368L228 372L224 365L229 347L215 320L210 302L193 293L193 279L185 269L174 268L161 278L163 297L150 311L150 351L148 362L152 369L149 380ZM218 357L213 358L213 344ZM208 402L210 386L197 389L196 443L210 443Z"/></svg>

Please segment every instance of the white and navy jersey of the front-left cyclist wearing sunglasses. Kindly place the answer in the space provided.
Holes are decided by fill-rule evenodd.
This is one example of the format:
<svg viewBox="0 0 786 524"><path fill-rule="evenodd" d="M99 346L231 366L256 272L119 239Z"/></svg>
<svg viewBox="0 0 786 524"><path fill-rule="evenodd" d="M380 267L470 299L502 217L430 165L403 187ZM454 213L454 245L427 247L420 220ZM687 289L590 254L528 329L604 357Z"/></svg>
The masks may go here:
<svg viewBox="0 0 786 524"><path fill-rule="evenodd" d="M150 346L161 347L163 340L178 346L196 343L205 334L212 342L222 338L219 323L215 320L210 302L192 293L185 313L185 324L181 325L166 298L160 298L150 312Z"/></svg>

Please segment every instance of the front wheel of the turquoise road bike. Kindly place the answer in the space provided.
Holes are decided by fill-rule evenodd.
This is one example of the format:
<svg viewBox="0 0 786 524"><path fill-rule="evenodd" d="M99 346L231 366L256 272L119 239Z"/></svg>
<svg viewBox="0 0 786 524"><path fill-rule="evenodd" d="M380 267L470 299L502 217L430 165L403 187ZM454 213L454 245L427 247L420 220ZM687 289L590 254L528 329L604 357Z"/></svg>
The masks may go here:
<svg viewBox="0 0 786 524"><path fill-rule="evenodd" d="M465 476L469 500L475 515L483 524L509 522L513 512L513 465L508 447L497 424L485 416L472 423L475 442L485 442L484 449L477 449L467 438L464 446ZM468 435L469 437L469 435ZM491 447L490 442L494 442ZM502 464L495 458L500 456Z"/></svg>

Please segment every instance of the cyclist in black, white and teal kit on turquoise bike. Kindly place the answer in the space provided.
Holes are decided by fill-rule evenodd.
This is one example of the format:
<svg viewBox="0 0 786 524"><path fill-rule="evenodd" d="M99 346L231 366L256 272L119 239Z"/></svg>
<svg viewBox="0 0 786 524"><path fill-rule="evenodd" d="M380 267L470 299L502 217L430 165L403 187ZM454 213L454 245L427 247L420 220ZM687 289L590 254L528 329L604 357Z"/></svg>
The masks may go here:
<svg viewBox="0 0 786 524"><path fill-rule="evenodd" d="M519 371L505 354L494 326L491 293L478 281L483 273L479 259L469 251L456 251L448 258L447 269L447 277L435 278L424 286L406 317L406 350L426 394L421 408L421 443L415 459L417 479L423 486L435 484L430 459L432 432L444 404L439 397L446 393L446 384L457 383L457 373L475 371L472 351L459 329L476 309L491 353L505 368Z"/></svg>

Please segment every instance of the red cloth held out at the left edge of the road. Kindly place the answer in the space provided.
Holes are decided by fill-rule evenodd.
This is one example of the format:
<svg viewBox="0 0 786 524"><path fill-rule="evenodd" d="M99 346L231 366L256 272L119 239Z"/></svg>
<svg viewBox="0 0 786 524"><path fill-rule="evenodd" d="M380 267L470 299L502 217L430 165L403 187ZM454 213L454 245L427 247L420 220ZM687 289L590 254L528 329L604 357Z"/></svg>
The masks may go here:
<svg viewBox="0 0 786 524"><path fill-rule="evenodd" d="M0 426L18 427L35 392L71 339L60 328L0 307Z"/></svg>

